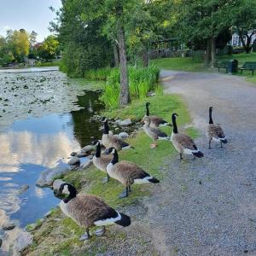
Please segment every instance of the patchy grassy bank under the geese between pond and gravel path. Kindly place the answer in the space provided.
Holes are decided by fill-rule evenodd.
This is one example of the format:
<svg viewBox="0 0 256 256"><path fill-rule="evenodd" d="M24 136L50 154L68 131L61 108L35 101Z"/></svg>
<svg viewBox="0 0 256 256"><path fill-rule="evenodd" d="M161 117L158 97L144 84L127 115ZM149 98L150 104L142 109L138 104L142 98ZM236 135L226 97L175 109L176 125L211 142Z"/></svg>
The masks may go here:
<svg viewBox="0 0 256 256"><path fill-rule="evenodd" d="M150 110L152 114L158 114L170 121L171 113L177 112L179 114L178 125L190 121L189 112L183 100L177 95L152 96L147 99L133 101L126 108L103 114L107 114L109 117L118 116L122 119L139 119L144 115L144 105L147 101L151 102ZM163 130L171 134L172 128L168 126ZM189 129L189 134L195 136L195 131ZM137 131L137 135L129 138L128 141L135 149L120 152L120 160L131 160L162 181L164 173L161 167L164 165L164 161L177 154L172 144L160 141L157 148L149 148L152 141L143 131ZM113 179L109 183L103 184L102 177L104 176L104 173L96 170L94 166L90 166L89 169L82 172L69 172L61 178L73 183L82 192L102 197L112 207L129 213L132 221L136 222L138 219L135 209L142 210L140 201L150 195L152 186L150 184L133 185L131 195L119 200L118 195L124 189L123 186ZM137 225L136 227L138 228ZM32 231L33 244L25 253L32 253L31 255L95 255L96 253L118 250L118 247L122 247L127 242L130 246L132 244L139 247L142 254L146 253L150 248L150 241L147 240L145 234L143 232L138 233L140 229L127 230L129 229L112 226L108 228L105 236L101 238L93 237L90 241L83 243L79 241L79 236L83 234L84 230L75 224L71 218L63 216L59 209L55 209L38 230ZM134 236L131 236L132 232L135 233ZM146 251L143 251L143 248ZM150 249L152 250L152 247Z"/></svg>

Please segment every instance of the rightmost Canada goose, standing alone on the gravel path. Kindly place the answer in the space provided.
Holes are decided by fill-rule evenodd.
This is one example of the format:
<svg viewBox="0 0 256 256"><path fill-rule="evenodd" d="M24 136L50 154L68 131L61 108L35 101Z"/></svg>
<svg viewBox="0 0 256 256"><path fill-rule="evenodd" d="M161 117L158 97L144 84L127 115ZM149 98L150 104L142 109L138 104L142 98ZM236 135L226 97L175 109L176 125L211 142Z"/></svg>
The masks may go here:
<svg viewBox="0 0 256 256"><path fill-rule="evenodd" d="M212 140L215 142L219 142L220 148L223 148L222 143L228 143L221 126L213 124L212 107L209 108L209 125L207 125L207 135L209 137L209 148L211 148Z"/></svg>

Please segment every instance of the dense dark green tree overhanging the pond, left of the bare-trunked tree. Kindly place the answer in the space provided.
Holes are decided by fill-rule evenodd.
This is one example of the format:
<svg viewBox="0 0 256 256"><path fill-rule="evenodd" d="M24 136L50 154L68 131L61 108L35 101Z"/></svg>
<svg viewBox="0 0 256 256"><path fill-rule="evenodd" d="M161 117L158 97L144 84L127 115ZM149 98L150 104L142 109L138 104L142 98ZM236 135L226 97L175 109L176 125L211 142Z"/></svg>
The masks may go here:
<svg viewBox="0 0 256 256"><path fill-rule="evenodd" d="M61 68L71 76L84 76L86 70L106 67L111 63L110 42L102 36L104 17L87 20L81 17L90 9L92 1L62 1L55 11L57 18L50 29L56 32L63 50Z"/></svg>

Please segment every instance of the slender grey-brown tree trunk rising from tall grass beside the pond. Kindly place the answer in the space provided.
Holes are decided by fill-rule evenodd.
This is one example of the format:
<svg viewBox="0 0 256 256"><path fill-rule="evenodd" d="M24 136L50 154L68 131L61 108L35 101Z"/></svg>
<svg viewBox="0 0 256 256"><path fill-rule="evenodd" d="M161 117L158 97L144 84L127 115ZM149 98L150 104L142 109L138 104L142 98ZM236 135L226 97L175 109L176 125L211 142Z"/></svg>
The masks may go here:
<svg viewBox="0 0 256 256"><path fill-rule="evenodd" d="M119 106L124 107L129 102L129 80L128 80L128 68L126 59L126 49L125 49L125 29L122 24L118 27L118 37L119 37L119 58L120 58L120 96L119 96Z"/></svg>

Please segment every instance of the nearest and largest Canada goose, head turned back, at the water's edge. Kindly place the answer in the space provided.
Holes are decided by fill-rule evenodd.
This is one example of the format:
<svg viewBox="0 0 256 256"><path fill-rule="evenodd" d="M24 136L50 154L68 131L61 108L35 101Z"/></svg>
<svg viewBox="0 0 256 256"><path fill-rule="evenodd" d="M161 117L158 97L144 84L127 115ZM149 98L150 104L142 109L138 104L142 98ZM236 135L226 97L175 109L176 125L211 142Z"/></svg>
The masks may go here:
<svg viewBox="0 0 256 256"><path fill-rule="evenodd" d="M70 183L62 183L58 192L68 195L61 200L61 211L85 228L81 240L90 238L89 229L93 226L102 227L95 233L96 236L102 236L105 233L105 225L119 224L126 227L131 224L129 216L115 211L94 195L77 194L77 190Z"/></svg>

